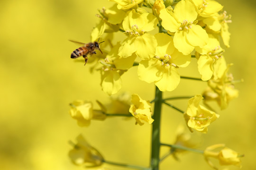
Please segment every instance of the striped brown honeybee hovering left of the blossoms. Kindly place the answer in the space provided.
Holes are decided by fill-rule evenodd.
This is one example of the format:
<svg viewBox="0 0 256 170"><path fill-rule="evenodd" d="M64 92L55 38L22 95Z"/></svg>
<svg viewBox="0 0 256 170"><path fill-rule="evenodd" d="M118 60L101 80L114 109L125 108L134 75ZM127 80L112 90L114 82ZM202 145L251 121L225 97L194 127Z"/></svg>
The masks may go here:
<svg viewBox="0 0 256 170"><path fill-rule="evenodd" d="M98 40L98 42L89 42L89 43L82 43L82 42L76 42L76 41L73 41L73 40L69 40L71 42L75 42L75 43L79 43L79 44L83 45L82 47L74 50L71 53L71 58L76 59L76 58L82 56L84 58L85 64L86 64L87 60L88 60L88 56L87 56L88 54L90 54L90 55L96 54L95 50L101 51L99 44L102 43L102 42L99 42L99 40ZM101 54L102 54L102 51L101 51Z"/></svg>

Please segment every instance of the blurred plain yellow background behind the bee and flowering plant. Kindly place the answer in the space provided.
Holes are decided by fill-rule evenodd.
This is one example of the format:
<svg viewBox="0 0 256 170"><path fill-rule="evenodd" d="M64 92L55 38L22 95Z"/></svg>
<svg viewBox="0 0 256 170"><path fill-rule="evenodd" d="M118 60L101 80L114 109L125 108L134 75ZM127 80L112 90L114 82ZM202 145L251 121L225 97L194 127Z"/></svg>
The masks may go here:
<svg viewBox="0 0 256 170"><path fill-rule="evenodd" d="M206 135L199 136L204 149L225 143L244 153L244 170L256 170L256 2L219 0L228 14L230 48L226 49L230 71L239 97L221 111ZM107 0L0 0L0 169L1 170L82 170L74 166L67 153L69 140L82 133L109 161L147 166L150 157L150 126L135 126L134 119L111 118L92 121L90 127L78 127L68 111L76 99L109 102L101 91L100 74L90 74L89 67L70 59L78 46L68 39L89 42L98 8L110 7ZM197 76L196 62L183 70L183 76ZM152 100L155 87L137 78L137 68L122 76L119 92L138 93ZM165 97L201 93L206 83L182 80ZM185 110L187 101L172 102ZM96 104L95 104L96 105ZM216 106L213 103L213 106ZM162 137L173 143L174 132L183 116L164 107ZM193 135L197 135L196 133ZM172 157L161 164L163 170L210 170L203 156L184 153L180 161ZM216 162L217 163L217 162ZM217 163L218 165L218 163ZM218 165L219 166L219 165ZM110 170L125 170L105 165ZM221 167L224 169L227 167ZM225 170L237 170L229 166Z"/></svg>

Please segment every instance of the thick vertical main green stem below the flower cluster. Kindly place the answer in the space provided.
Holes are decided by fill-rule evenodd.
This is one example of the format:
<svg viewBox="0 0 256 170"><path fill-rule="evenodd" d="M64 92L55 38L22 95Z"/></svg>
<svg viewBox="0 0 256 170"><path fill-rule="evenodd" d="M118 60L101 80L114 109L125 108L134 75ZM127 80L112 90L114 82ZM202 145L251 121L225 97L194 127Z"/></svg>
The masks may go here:
<svg viewBox="0 0 256 170"><path fill-rule="evenodd" d="M151 170L159 170L160 154L160 119L162 109L162 92L155 86L155 108L152 123Z"/></svg>

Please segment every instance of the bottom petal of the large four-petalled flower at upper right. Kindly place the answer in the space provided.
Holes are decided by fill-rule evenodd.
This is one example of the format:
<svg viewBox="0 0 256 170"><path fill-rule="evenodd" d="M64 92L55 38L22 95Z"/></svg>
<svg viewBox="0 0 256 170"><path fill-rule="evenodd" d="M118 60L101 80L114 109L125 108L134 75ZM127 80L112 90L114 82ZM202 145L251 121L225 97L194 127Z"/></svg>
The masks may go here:
<svg viewBox="0 0 256 170"><path fill-rule="evenodd" d="M194 47L187 42L186 34L186 31L177 31L174 34L174 47L184 55L188 55L194 50Z"/></svg>

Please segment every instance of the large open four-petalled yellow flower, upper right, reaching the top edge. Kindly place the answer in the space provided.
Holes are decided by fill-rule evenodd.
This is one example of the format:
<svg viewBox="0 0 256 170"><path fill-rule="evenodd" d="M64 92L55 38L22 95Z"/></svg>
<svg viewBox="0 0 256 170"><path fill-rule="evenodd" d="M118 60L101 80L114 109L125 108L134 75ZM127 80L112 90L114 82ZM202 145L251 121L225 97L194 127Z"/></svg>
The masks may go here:
<svg viewBox="0 0 256 170"><path fill-rule="evenodd" d="M198 13L195 5L189 0L179 1L174 12L167 9L160 11L162 26L174 33L174 47L184 55L190 54L195 46L201 48L208 42L208 34L199 25L196 25Z"/></svg>

